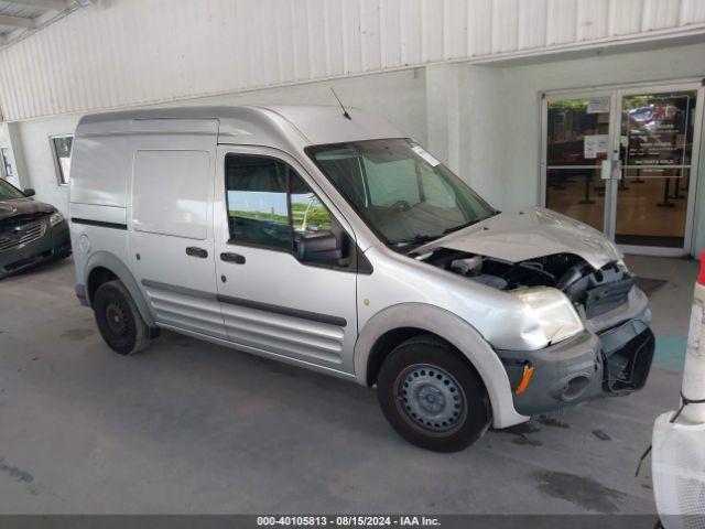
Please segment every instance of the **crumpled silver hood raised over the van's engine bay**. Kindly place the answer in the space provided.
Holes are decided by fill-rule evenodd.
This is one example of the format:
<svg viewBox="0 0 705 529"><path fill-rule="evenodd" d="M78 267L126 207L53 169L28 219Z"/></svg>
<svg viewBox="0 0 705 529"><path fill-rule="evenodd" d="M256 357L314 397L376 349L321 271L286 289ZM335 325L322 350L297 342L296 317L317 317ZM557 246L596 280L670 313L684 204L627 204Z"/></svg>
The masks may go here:
<svg viewBox="0 0 705 529"><path fill-rule="evenodd" d="M436 248L467 251L511 262L554 253L574 253L596 269L622 258L619 249L601 233L541 207L501 213L423 245L415 252L424 253Z"/></svg>

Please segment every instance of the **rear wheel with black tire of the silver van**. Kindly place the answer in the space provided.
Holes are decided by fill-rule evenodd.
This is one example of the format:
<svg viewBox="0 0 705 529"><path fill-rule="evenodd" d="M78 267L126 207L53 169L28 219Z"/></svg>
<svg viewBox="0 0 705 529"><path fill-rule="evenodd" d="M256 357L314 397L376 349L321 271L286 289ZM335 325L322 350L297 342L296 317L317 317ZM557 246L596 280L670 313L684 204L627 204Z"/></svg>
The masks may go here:
<svg viewBox="0 0 705 529"><path fill-rule="evenodd" d="M149 347L150 330L121 281L108 281L98 287L93 310L98 331L112 350L133 355Z"/></svg>

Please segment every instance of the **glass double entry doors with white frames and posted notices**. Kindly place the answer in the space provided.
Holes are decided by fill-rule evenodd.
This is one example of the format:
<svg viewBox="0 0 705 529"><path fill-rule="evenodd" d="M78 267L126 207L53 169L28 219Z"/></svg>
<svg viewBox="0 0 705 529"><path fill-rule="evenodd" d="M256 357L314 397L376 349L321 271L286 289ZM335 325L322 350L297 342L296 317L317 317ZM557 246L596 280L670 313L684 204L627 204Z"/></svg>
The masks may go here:
<svg viewBox="0 0 705 529"><path fill-rule="evenodd" d="M687 253L701 93L677 86L547 98L545 206L627 251Z"/></svg>

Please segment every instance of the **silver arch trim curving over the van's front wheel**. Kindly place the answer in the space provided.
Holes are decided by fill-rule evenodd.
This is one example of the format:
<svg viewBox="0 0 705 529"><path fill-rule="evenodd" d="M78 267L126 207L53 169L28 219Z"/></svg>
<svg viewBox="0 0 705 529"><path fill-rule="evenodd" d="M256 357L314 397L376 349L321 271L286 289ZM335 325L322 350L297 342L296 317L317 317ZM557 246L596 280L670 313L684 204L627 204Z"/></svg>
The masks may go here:
<svg viewBox="0 0 705 529"><path fill-rule="evenodd" d="M492 425L508 428L529 420L517 413L509 377L499 357L465 320L425 303L389 306L367 321L355 345L355 378L367 385L367 367L377 339L397 328L415 327L433 333L457 348L479 374L492 407Z"/></svg>

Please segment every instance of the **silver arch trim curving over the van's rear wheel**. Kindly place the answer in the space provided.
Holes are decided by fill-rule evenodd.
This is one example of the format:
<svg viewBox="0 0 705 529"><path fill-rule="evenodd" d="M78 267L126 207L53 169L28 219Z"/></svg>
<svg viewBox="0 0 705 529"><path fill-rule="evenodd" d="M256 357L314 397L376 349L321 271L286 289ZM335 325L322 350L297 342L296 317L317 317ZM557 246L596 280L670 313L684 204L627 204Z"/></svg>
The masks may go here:
<svg viewBox="0 0 705 529"><path fill-rule="evenodd" d="M128 289L134 304L140 311L140 315L150 327L154 327L154 319L142 295L142 291L138 287L137 280L130 272L129 268L115 253L108 251L97 251L90 256L86 263L85 285L87 301L93 305L93 296L98 287L106 281L119 279Z"/></svg>

